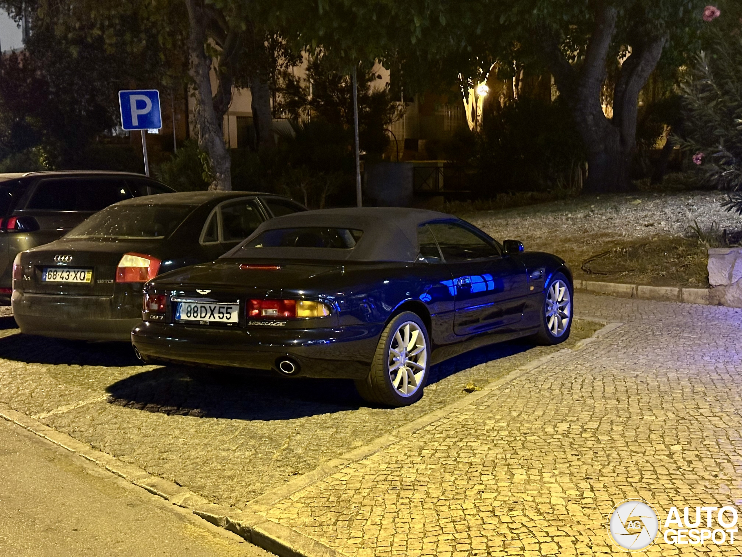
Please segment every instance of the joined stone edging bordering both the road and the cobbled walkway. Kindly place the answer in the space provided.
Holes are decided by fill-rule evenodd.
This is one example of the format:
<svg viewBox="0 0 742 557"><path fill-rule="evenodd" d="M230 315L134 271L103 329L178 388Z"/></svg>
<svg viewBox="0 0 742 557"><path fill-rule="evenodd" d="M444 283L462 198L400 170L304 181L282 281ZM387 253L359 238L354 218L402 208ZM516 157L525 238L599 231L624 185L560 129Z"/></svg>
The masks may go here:
<svg viewBox="0 0 742 557"><path fill-rule="evenodd" d="M604 319L599 318L585 317L582 319L605 323ZM479 400L486 394L490 394L496 388L516 379L516 377L520 377L528 371L539 368L560 354L571 354L574 351L580 350L583 346L594 342L600 336L611 332L611 330L621 325L623 325L623 322L609 322L603 328L597 330L593 336L578 341L574 345L574 348L563 348L557 352L552 352L541 358L534 359L532 362L528 362L510 371L510 373L501 377L499 380L490 382L485 388L482 388L482 391L467 394L456 402L430 412L430 414L425 414L417 420L399 429L395 429L390 434L379 437L365 446L348 452L341 457L329 460L329 462L312 470L312 472L307 472L295 480L253 499L244 511L231 506L210 503L209 500L191 492L190 489L151 475L137 466L124 463L116 457L108 455L108 453L93 449L90 445L82 443L68 434L45 426L39 420L13 410L13 408L10 408L5 403L0 403L0 417L55 443L62 447L62 449L67 449L80 457L96 463L101 468L108 470L108 472L133 483L135 486L146 489L148 492L165 499L165 501L170 501L174 505L190 509L194 515L209 521L214 526L234 532L246 541L262 547L264 550L274 553L278 557L342 557L343 554L332 549L332 547L327 547L293 528L269 521L264 516L257 514L257 512L267 510L271 508L272 504L289 497L301 489L305 489L312 485L312 483L340 471L351 463L369 457L393 443L397 443L415 431L429 426L441 417L445 417L447 414Z"/></svg>

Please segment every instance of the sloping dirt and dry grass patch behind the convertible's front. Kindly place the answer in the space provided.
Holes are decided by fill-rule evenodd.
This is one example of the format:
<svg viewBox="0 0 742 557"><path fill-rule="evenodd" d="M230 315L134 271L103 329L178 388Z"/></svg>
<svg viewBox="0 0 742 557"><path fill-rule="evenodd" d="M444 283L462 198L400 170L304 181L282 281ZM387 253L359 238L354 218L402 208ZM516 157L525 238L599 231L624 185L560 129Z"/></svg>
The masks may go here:
<svg viewBox="0 0 742 557"><path fill-rule="evenodd" d="M729 238L742 229L742 218L721 206L725 199L721 192L640 192L505 210L462 206L457 214L500 241L559 255L575 278L707 287L708 247L719 245L725 229Z"/></svg>

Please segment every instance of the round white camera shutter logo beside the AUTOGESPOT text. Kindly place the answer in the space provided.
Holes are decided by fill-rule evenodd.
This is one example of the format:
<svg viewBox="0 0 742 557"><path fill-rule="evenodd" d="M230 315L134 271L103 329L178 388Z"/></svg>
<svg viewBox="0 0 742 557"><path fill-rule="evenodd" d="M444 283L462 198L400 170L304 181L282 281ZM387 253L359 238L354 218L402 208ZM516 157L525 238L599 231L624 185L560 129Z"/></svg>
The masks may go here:
<svg viewBox="0 0 742 557"><path fill-rule="evenodd" d="M627 551L641 551L654 544L660 524L657 512L641 499L621 501L608 516L608 534Z"/></svg>

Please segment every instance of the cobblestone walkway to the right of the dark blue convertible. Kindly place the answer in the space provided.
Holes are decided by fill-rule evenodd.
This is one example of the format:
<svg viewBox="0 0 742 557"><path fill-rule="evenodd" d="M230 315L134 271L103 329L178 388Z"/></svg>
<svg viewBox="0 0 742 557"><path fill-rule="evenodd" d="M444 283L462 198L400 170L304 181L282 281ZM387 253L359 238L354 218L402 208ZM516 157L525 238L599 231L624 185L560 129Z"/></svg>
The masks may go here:
<svg viewBox="0 0 742 557"><path fill-rule="evenodd" d="M661 532L671 506L742 506L742 311L578 295L577 313L625 325L263 514L354 557L585 556L623 553L606 518L643 498L647 555L739 555Z"/></svg>

